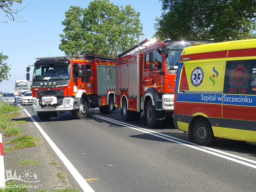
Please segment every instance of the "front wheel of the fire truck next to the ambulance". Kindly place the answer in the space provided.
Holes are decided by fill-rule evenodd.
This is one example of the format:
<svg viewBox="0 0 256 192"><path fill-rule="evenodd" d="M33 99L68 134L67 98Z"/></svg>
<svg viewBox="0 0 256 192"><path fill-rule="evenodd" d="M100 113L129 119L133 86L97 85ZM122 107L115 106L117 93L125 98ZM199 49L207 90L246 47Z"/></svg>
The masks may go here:
<svg viewBox="0 0 256 192"><path fill-rule="evenodd" d="M152 104L152 101L147 102L145 116L146 116L147 125L150 128L157 127L159 122L156 120L156 111Z"/></svg>

